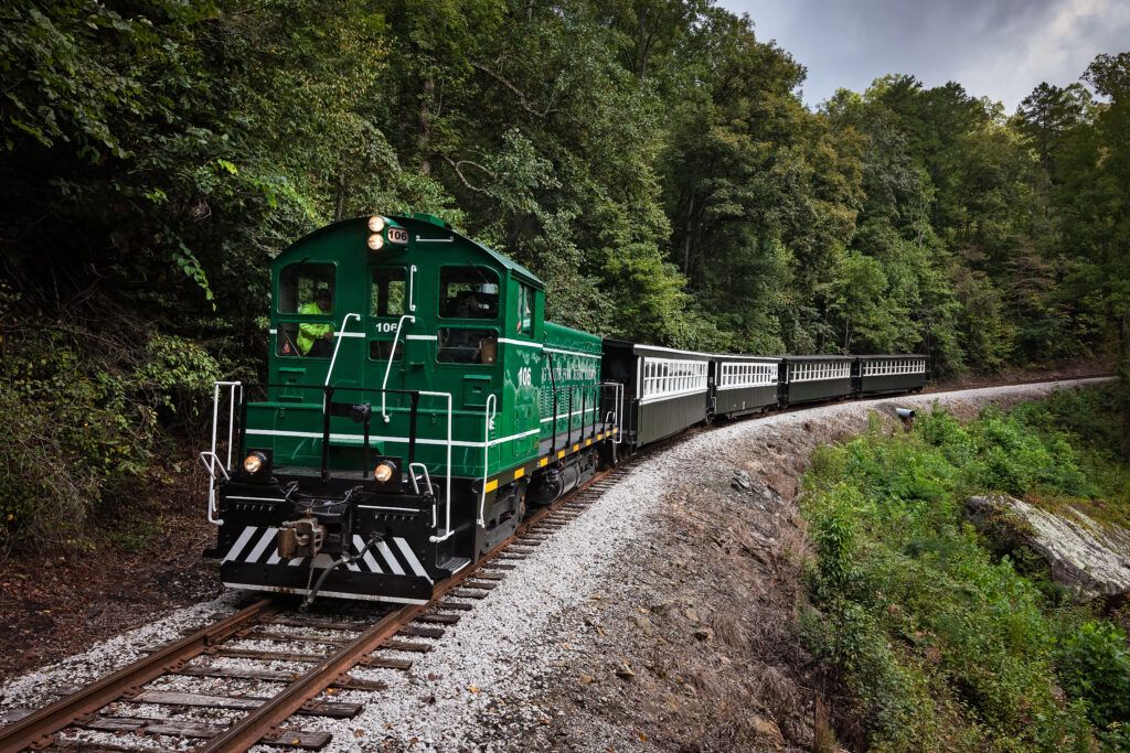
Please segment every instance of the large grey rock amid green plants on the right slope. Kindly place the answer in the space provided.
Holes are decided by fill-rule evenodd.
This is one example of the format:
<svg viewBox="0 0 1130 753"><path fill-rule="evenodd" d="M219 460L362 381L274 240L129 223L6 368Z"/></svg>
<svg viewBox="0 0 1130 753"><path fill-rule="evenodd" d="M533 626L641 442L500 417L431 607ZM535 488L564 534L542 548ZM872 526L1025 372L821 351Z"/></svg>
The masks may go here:
<svg viewBox="0 0 1130 753"><path fill-rule="evenodd" d="M1043 557L1052 580L1078 601L1130 596L1130 531L1074 507L1053 514L1005 496L972 497L965 508L981 529L1005 534Z"/></svg>

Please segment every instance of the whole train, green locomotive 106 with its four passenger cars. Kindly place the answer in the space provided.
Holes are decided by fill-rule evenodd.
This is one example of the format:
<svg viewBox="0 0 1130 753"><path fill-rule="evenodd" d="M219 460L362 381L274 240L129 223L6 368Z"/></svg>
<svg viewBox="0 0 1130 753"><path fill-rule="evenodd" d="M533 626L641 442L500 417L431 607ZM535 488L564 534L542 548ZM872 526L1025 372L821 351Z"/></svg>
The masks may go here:
<svg viewBox="0 0 1130 753"><path fill-rule="evenodd" d="M271 290L267 384L217 383L201 453L231 588L426 603L618 456L925 384L924 356L712 354L547 322L536 274L429 214L316 230Z"/></svg>

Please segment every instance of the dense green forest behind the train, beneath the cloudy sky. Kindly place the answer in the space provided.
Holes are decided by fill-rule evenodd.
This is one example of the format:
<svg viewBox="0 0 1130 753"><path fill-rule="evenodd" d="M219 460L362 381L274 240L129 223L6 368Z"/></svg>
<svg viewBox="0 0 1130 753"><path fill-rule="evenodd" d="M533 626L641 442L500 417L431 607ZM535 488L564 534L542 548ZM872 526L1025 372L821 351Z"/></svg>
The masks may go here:
<svg viewBox="0 0 1130 753"><path fill-rule="evenodd" d="M602 334L935 376L1120 352L1130 384L1127 52L1016 113L905 75L814 111L802 63L709 0L0 19L8 544L186 467L169 437L266 351L272 255L375 210L443 217Z"/></svg>

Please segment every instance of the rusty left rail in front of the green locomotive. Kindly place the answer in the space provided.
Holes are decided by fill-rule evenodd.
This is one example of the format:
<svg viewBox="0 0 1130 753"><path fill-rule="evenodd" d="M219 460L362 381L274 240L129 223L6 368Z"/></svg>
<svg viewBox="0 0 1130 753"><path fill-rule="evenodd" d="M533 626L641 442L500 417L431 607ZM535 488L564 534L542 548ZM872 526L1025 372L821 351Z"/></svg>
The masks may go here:
<svg viewBox="0 0 1130 753"><path fill-rule="evenodd" d="M51 706L0 727L0 753L14 753L26 747L50 744L52 735L76 719L94 713L123 694L166 674L176 665L203 654L210 646L259 621L271 611L272 604L270 598L260 599L219 622L157 649Z"/></svg>

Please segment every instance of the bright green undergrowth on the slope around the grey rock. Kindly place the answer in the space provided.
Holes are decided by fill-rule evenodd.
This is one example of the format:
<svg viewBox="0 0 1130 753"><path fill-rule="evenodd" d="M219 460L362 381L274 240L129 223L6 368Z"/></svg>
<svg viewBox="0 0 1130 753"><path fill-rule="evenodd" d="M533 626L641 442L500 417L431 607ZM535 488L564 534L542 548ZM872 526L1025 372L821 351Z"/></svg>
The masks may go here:
<svg viewBox="0 0 1130 753"><path fill-rule="evenodd" d="M1062 429L1086 412L1101 421L1111 400L1059 396L968 426L935 408L910 434L872 429L817 455L802 498L814 608L801 627L868 720L873 748L1124 742L1125 634L1023 575L963 509L972 493L1002 491L1125 508L1124 490L1080 472L1089 450Z"/></svg>

